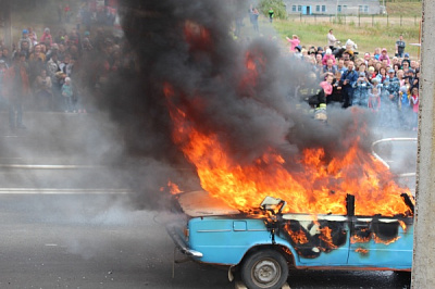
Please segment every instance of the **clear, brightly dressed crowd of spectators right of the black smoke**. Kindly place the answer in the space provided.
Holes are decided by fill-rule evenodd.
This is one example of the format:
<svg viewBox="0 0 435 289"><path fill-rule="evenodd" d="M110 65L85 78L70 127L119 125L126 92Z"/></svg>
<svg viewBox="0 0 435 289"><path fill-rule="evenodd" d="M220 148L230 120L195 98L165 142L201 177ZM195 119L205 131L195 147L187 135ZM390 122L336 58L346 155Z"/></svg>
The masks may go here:
<svg viewBox="0 0 435 289"><path fill-rule="evenodd" d="M386 48L359 54L350 39L339 46L332 29L326 40L325 47L315 48L302 47L297 35L287 37L291 56L306 61L319 84L316 91L302 86L300 97L320 111L334 102L345 109L368 108L381 126L417 130L420 63L405 52L402 35L394 55Z"/></svg>

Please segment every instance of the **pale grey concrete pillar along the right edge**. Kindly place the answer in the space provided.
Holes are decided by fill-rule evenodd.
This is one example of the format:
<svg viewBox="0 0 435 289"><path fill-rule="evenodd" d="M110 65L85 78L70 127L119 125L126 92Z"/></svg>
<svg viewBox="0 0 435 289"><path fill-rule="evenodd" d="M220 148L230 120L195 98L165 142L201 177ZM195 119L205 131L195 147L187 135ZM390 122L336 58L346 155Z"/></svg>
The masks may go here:
<svg viewBox="0 0 435 289"><path fill-rule="evenodd" d="M435 1L423 0L412 288L435 288Z"/></svg>

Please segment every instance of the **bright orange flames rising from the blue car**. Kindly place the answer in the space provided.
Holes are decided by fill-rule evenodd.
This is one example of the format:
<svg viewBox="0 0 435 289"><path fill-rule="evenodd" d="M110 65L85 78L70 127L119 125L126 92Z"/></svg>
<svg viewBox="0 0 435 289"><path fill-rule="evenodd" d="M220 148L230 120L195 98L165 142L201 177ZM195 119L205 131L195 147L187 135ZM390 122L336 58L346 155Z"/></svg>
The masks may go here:
<svg viewBox="0 0 435 289"><path fill-rule="evenodd" d="M211 43L207 30L195 23L186 23L185 34L191 48L207 49ZM201 39L203 45L199 46ZM247 53L245 66L241 87L256 81L264 60ZM258 208L264 197L272 196L287 201L286 212L346 214L345 200L350 193L355 196L357 215L409 213L400 197L402 192L410 194L409 190L400 188L381 162L360 149L359 138L348 140L350 149L336 158L326 158L323 148L315 148L304 149L298 158L288 160L270 147L254 162L241 165L231 159L227 144L217 134L199 129L199 124L189 117L189 112L201 109L195 108L203 105L201 101L175 104L175 89L169 83L163 92L173 120L174 142L195 164L202 188L235 209ZM291 164L303 169L290 172L286 167ZM324 235L326 240L327 231Z"/></svg>

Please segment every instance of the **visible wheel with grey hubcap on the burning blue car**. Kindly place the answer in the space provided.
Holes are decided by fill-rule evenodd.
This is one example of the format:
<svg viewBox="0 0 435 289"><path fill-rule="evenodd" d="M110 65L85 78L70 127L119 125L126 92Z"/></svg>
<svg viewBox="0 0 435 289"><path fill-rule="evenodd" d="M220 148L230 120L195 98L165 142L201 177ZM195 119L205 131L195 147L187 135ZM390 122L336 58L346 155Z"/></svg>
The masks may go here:
<svg viewBox="0 0 435 289"><path fill-rule="evenodd" d="M249 289L279 289L288 277L287 261L277 251L260 250L245 259L240 277Z"/></svg>

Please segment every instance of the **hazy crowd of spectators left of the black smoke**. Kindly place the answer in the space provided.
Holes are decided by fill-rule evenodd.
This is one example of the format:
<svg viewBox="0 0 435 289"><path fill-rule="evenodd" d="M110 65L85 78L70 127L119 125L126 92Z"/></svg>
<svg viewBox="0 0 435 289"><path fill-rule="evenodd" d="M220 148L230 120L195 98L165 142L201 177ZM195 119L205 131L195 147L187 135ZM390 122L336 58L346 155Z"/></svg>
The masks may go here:
<svg viewBox="0 0 435 289"><path fill-rule="evenodd" d="M111 74L132 70L133 53L112 23L69 25L69 11L59 25L69 30L45 27L38 36L27 27L12 47L0 41L0 110L9 110L11 129L25 128L23 109L87 113Z"/></svg>

